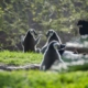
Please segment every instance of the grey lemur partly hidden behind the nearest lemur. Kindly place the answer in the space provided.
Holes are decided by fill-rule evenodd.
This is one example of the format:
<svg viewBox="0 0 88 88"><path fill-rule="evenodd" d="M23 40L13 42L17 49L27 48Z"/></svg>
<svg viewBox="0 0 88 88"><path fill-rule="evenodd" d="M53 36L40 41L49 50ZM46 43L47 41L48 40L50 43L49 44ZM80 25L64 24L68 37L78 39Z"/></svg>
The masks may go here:
<svg viewBox="0 0 88 88"><path fill-rule="evenodd" d="M57 35L57 33L56 33L54 30L48 30L48 31L46 32L46 37L47 37L47 42L46 42L46 44L45 44L45 45L42 47L42 50L41 50L41 53L42 53L42 54L44 54L44 52L45 52L45 50L46 50L46 47L47 47L47 44L48 44L50 42L52 42L52 41L57 41L58 43L62 44L62 41L61 41L59 36Z"/></svg>

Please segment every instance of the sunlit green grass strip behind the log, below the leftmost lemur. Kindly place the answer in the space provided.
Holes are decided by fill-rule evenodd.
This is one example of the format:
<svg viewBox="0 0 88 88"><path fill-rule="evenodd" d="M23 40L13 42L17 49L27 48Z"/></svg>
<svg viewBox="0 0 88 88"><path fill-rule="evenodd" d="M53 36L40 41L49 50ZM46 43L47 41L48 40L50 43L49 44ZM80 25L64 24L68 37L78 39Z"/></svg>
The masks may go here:
<svg viewBox="0 0 88 88"><path fill-rule="evenodd" d="M25 65L25 64L38 64L43 58L42 54L22 53L22 52L0 52L0 63L7 65Z"/></svg>

